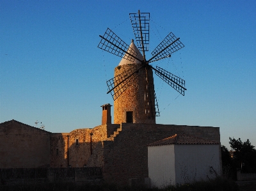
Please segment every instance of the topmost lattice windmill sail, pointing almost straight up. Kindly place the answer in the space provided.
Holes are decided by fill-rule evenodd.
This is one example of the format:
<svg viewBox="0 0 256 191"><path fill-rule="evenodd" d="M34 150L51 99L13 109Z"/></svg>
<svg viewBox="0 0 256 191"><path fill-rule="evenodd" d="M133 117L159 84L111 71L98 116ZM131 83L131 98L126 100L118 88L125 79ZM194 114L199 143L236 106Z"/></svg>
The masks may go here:
<svg viewBox="0 0 256 191"><path fill-rule="evenodd" d="M143 45L144 45L144 51L148 51L150 13L139 12L139 13L130 13L129 15L132 23L132 29L138 45L138 49L140 51L143 51ZM140 22L141 22L141 29L140 29Z"/></svg>

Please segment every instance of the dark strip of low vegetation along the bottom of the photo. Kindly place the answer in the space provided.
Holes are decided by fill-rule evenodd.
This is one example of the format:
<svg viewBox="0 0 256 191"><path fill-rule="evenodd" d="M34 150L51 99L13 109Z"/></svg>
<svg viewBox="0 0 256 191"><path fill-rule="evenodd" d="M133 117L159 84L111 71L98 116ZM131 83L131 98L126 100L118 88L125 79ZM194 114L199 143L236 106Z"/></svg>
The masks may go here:
<svg viewBox="0 0 256 191"><path fill-rule="evenodd" d="M75 183L44 183L44 184L33 184L33 185L13 185L13 186L1 186L0 190L33 190L33 191L43 191L43 190L54 190L54 191L237 191L239 187L232 180L216 178L209 181L198 181L191 184L169 186L163 189L158 188L145 188L145 187L118 187L116 185L102 184L86 184L86 185L76 185Z"/></svg>

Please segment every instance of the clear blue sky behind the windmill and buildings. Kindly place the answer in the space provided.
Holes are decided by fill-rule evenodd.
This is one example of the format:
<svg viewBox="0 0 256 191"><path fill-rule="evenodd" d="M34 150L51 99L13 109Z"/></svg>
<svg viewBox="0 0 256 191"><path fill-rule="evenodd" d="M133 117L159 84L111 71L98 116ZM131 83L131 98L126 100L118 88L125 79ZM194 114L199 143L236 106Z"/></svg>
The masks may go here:
<svg viewBox="0 0 256 191"><path fill-rule="evenodd" d="M1 0L0 122L38 120L49 132L100 125L121 57L97 48L99 34L109 27L130 44L138 10L150 12L151 51L171 31L185 45L153 63L188 89L179 96L155 77L157 123L219 126L228 148L228 137L256 146L256 1Z"/></svg>

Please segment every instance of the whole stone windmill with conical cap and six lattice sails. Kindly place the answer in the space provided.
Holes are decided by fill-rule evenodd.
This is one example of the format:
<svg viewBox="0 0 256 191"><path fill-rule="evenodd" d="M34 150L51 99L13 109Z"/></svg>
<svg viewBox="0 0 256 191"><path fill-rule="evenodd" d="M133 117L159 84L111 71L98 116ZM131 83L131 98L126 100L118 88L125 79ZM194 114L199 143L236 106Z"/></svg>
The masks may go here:
<svg viewBox="0 0 256 191"><path fill-rule="evenodd" d="M107 81L108 92L114 100L114 123L156 123L159 116L156 94L154 91L153 70L158 77L184 96L185 80L150 63L170 57L184 45L180 38L169 33L152 51L152 57L146 59L149 46L150 13L130 13L132 28L137 46L132 40L127 45L111 29L100 35L98 47L122 57L115 68L115 77ZM141 54L143 53L143 55Z"/></svg>

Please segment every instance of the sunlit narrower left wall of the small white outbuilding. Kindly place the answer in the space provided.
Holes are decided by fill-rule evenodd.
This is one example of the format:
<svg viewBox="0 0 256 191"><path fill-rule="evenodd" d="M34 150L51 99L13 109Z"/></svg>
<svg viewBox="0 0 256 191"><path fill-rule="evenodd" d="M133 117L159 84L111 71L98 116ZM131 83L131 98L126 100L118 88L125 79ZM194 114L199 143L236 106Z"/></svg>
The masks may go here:
<svg viewBox="0 0 256 191"><path fill-rule="evenodd" d="M175 184L174 145L148 147L148 178L151 187Z"/></svg>

